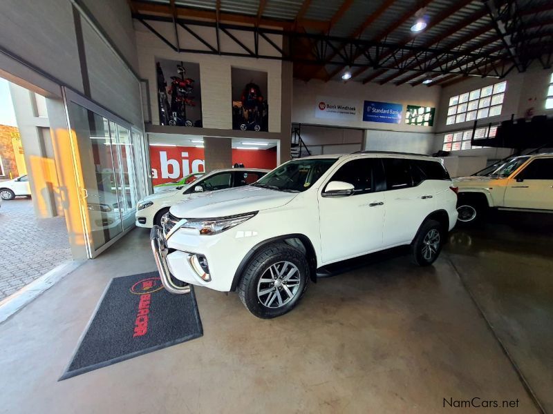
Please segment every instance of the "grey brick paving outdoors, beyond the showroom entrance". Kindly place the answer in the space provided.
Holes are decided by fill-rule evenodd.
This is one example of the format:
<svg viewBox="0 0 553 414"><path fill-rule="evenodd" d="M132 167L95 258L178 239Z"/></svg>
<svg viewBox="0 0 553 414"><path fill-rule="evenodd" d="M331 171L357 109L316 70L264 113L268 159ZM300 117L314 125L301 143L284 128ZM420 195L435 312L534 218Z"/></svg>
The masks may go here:
<svg viewBox="0 0 553 414"><path fill-rule="evenodd" d="M32 201L18 197L0 207L0 299L71 260L64 217L36 219Z"/></svg>

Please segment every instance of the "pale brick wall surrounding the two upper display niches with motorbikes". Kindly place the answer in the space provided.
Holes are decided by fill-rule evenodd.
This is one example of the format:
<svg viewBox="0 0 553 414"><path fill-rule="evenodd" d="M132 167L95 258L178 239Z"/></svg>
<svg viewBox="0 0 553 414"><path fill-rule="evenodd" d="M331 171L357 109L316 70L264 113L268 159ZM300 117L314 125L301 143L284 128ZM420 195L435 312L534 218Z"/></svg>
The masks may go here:
<svg viewBox="0 0 553 414"><path fill-rule="evenodd" d="M162 33L167 39L174 42L174 28L169 23L152 22L158 32ZM190 34L179 28L179 39L181 48L200 48L206 49ZM209 28L196 28L198 32L212 45L216 45L215 32ZM149 88L151 95L151 117L152 124L159 124L157 87L156 87L156 58L172 59L175 61L188 61L199 63L200 82L202 90L202 116L204 128L232 129L232 87L231 87L231 67L245 68L250 70L261 70L268 73L268 91L265 95L269 105L269 132L280 132L281 130L281 61L272 59L252 59L247 57L228 57L217 55L202 55L191 53L178 53L171 50L169 46L163 43L142 23L135 21L136 43L138 49L138 61L140 75L149 79ZM235 33L236 34L236 33ZM253 49L248 40L242 36L236 37L244 41L247 47ZM272 36L272 40L281 44L281 39ZM229 50L227 46L232 41L225 35L221 36L221 45L223 50ZM233 46L234 47L234 46ZM236 45L236 52L240 46ZM267 45L260 49L260 53L265 55L274 55L274 49L271 50Z"/></svg>

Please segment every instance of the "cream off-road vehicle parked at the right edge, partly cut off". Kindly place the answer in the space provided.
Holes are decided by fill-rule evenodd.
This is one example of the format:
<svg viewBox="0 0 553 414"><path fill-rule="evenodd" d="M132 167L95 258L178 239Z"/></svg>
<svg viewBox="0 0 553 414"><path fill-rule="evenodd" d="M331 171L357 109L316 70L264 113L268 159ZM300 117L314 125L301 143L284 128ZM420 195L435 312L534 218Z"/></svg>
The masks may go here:
<svg viewBox="0 0 553 414"><path fill-rule="evenodd" d="M490 209L553 212L553 154L513 157L488 175L453 182L460 224L474 224Z"/></svg>

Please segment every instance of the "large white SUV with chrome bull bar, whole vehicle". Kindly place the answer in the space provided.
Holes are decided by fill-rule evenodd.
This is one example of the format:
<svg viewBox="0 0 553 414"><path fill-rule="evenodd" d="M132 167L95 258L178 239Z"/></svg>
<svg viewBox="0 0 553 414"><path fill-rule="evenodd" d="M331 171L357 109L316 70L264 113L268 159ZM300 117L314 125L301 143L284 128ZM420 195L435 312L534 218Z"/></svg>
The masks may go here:
<svg viewBox="0 0 553 414"><path fill-rule="evenodd" d="M433 263L456 202L439 159L320 155L176 204L151 245L170 292L189 292L181 282L238 290L251 313L270 318L290 311L327 264L405 244L415 263Z"/></svg>

